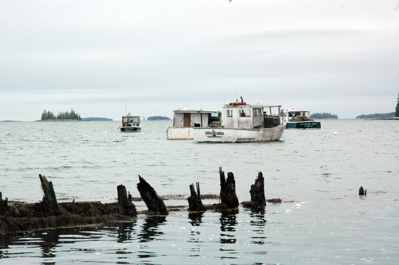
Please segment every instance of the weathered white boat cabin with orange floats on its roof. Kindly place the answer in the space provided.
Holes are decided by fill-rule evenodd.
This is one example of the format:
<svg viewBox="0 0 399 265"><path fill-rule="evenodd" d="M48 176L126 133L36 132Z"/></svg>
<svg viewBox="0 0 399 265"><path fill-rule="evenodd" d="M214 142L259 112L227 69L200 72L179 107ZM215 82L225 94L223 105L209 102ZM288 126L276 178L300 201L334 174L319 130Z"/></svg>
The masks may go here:
<svg viewBox="0 0 399 265"><path fill-rule="evenodd" d="M282 124L279 105L234 103L223 106L224 128L265 129Z"/></svg>

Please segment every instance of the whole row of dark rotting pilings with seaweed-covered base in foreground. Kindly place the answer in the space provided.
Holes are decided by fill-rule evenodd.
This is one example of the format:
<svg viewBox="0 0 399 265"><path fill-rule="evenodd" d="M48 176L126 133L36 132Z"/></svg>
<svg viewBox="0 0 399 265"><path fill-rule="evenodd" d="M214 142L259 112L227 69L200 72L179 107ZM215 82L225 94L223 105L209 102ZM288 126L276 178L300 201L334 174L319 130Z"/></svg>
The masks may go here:
<svg viewBox="0 0 399 265"><path fill-rule="evenodd" d="M227 173L227 179L221 167L220 203L204 206L201 201L200 184L190 185L191 196L188 198L189 211L204 212L237 211L238 198L235 194L235 180L232 172ZM43 198L38 203L8 202L2 199L0 192L0 234L36 230L43 228L73 227L118 221L129 221L137 217L136 206L132 195L124 185L117 186L118 201L115 203L90 202L57 202L54 187L44 175L39 174ZM145 202L149 215L168 215L169 211L164 201L155 189L139 175L137 189ZM197 189L197 191L196 191ZM251 186L251 202L244 207L265 207L264 180L259 172L255 184ZM253 200L253 201L252 201Z"/></svg>

